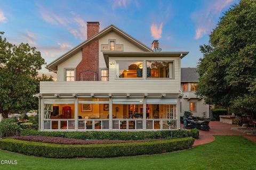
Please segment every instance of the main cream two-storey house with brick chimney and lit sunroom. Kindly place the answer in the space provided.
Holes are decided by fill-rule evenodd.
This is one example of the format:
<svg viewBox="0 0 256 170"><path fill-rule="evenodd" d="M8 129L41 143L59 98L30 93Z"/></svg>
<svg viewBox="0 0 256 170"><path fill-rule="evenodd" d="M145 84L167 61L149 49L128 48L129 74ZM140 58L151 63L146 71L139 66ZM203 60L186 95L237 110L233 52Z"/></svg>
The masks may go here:
<svg viewBox="0 0 256 170"><path fill-rule="evenodd" d="M87 40L46 68L40 82L41 131L167 130L180 128L181 58L159 52L121 29L87 22ZM172 121L170 121L172 120Z"/></svg>

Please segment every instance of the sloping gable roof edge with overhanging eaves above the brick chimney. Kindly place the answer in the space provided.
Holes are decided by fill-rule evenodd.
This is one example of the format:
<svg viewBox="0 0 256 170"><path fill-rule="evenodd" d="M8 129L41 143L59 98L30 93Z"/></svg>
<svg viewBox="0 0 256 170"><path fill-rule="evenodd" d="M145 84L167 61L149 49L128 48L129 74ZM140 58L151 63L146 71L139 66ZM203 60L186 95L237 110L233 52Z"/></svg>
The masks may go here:
<svg viewBox="0 0 256 170"><path fill-rule="evenodd" d="M117 28L115 25L112 24L112 25L109 25L108 27L106 27L105 29L101 30L99 33L95 34L91 38L87 39L83 43L81 43L81 44L77 45L76 47L74 47L73 49L69 50L67 53L63 54L62 56L60 56L59 58L57 58L56 60L54 60L50 64L47 64L45 68L50 70L50 71L56 71L58 64L67 60L69 57L73 56L74 54L76 54L77 52L82 50L82 47L84 45L90 43L91 41L93 41L95 39L98 39L98 38L106 35L110 31L115 31L119 35L123 36L125 39L129 40L131 43L137 45L139 48L141 48L145 52L153 52L153 50L151 48L149 48L145 44L141 43L139 40L133 38L132 36L130 36L129 34L124 32L123 30Z"/></svg>

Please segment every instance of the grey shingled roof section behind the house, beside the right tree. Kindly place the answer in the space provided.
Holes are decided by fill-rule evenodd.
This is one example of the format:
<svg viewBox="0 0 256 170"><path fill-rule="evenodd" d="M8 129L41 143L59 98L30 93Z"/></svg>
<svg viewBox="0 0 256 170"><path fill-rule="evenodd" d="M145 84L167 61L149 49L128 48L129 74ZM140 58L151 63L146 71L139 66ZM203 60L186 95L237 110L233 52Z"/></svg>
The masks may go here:
<svg viewBox="0 0 256 170"><path fill-rule="evenodd" d="M181 68L181 82L197 82L199 81L199 74L196 72L197 68Z"/></svg>

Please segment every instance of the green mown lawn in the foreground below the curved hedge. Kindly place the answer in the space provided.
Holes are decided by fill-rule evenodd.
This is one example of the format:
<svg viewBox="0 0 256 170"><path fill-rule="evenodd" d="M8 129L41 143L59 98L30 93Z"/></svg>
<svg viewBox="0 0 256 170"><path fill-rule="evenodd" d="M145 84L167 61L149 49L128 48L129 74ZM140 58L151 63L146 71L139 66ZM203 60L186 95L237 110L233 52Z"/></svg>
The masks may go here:
<svg viewBox="0 0 256 170"><path fill-rule="evenodd" d="M18 160L0 169L256 169L255 143L239 136L215 136L212 143L169 154L95 158L53 159L0 150L1 160Z"/></svg>

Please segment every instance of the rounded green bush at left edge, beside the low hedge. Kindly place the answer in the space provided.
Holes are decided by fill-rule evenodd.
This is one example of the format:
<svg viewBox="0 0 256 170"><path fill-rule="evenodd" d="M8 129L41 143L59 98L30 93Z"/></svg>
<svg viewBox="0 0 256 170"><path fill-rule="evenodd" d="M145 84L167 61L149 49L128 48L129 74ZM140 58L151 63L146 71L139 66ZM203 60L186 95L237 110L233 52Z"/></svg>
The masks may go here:
<svg viewBox="0 0 256 170"><path fill-rule="evenodd" d="M20 126L15 122L14 118L4 118L0 122L0 137L16 136L20 133Z"/></svg>

